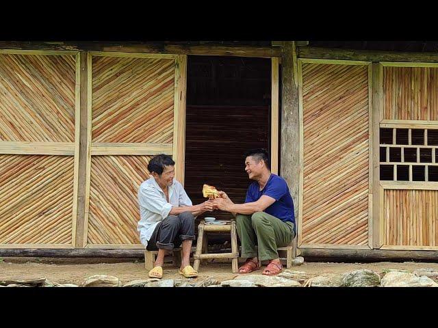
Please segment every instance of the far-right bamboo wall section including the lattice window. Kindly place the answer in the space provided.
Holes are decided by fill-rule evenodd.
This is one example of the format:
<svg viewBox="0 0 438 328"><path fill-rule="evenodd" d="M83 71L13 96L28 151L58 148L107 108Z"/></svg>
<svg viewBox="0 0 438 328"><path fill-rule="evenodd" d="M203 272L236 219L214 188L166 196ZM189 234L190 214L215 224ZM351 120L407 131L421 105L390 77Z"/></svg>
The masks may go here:
<svg viewBox="0 0 438 328"><path fill-rule="evenodd" d="M385 150L385 146L391 148L387 154L401 150L402 156L401 159L397 156L384 156L386 161L381 159L381 165L389 162L389 167L394 168L393 178L381 180L381 245L383 249L436 249L438 184L435 182L434 145L438 122L438 68L426 63L382 65L380 128L394 135L385 140L385 130L382 130L380 146L381 150ZM404 141L398 138L398 133L403 131L408 132ZM423 133L421 140L418 133ZM408 156L410 153L415 156ZM400 178L401 170L406 167L409 167L409 178Z"/></svg>

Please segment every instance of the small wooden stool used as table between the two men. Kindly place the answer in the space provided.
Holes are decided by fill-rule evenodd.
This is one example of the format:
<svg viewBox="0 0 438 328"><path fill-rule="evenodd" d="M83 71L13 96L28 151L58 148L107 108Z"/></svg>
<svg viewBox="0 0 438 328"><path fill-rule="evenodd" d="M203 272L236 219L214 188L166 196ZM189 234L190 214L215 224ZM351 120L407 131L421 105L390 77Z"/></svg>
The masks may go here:
<svg viewBox="0 0 438 328"><path fill-rule="evenodd" d="M219 253L219 254L208 254L207 253L207 243L204 241L207 236L207 232L230 232L231 233L231 253ZM213 224L205 224L205 221L201 221L198 226L198 241L196 243L196 252L193 256L194 264L193 269L198 271L199 263L201 260L206 260L208 258L231 258L231 269L233 273L237 273L237 260L239 258L239 249L237 248L237 233L235 230L235 220L231 220L230 224L223 226L216 226Z"/></svg>

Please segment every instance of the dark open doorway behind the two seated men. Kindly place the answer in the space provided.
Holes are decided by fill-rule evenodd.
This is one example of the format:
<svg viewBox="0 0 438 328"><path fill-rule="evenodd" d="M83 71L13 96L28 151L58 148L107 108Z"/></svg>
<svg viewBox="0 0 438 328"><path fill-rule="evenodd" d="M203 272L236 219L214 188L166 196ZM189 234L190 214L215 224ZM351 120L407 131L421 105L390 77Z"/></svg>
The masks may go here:
<svg viewBox="0 0 438 328"><path fill-rule="evenodd" d="M194 204L205 200L204 183L244 202L244 152L270 150L270 98L270 59L188 56L185 190ZM207 216L231 219L221 211Z"/></svg>

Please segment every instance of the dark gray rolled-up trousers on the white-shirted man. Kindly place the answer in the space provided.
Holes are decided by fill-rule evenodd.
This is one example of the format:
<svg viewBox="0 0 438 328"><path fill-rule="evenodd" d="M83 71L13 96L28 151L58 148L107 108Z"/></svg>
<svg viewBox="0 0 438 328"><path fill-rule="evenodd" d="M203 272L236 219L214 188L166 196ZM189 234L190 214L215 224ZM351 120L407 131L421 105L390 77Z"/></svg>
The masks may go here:
<svg viewBox="0 0 438 328"><path fill-rule="evenodd" d="M190 212L183 212L178 216L169 215L158 223L146 249L148 251L172 250L174 247L179 247L185 240L194 240L194 215Z"/></svg>

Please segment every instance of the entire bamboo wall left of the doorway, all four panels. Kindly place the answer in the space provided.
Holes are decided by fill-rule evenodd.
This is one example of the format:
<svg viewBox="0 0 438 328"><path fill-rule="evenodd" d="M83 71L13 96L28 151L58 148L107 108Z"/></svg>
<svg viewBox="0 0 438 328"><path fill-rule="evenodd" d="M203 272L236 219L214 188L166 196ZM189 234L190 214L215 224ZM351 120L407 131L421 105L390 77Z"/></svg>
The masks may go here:
<svg viewBox="0 0 438 328"><path fill-rule="evenodd" d="M151 156L172 155L183 180L185 63L1 51L0 247L142 248L137 192Z"/></svg>

